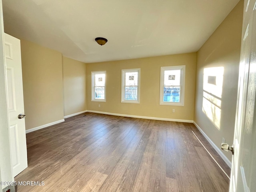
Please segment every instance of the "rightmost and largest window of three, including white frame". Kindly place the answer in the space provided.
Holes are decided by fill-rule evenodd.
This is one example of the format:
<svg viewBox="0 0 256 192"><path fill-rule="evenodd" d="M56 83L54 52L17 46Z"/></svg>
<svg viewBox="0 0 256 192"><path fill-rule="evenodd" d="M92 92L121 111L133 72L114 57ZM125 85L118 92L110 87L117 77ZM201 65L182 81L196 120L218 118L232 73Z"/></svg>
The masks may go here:
<svg viewBox="0 0 256 192"><path fill-rule="evenodd" d="M161 67L160 105L184 106L185 66Z"/></svg>

